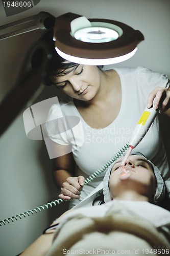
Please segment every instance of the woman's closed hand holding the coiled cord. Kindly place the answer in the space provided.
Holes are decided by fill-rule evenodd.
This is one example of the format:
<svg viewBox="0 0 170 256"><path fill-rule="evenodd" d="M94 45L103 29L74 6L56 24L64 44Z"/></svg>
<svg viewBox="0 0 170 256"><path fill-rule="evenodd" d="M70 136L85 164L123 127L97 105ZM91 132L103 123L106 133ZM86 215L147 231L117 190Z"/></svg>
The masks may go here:
<svg viewBox="0 0 170 256"><path fill-rule="evenodd" d="M62 184L59 198L62 200L79 199L84 182L85 178L83 176L68 177Z"/></svg>

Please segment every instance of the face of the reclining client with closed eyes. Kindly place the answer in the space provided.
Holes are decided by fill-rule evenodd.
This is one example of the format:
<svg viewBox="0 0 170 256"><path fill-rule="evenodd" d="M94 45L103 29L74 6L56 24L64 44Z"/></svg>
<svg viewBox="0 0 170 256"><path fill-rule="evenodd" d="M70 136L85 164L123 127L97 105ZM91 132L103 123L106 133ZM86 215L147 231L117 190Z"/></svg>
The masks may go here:
<svg viewBox="0 0 170 256"><path fill-rule="evenodd" d="M126 191L135 191L135 193L152 200L156 190L156 179L150 162L142 156L130 156L125 165L130 168L130 177L121 179L122 161L123 157L119 158L111 170L109 179L111 198L119 197Z"/></svg>

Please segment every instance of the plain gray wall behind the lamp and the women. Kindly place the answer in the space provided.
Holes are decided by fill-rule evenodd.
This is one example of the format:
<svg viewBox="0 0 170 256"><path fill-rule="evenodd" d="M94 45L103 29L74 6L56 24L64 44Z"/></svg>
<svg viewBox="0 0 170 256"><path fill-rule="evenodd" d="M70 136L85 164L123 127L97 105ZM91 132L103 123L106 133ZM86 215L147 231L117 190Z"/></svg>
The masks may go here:
<svg viewBox="0 0 170 256"><path fill-rule="evenodd" d="M145 40L139 44L137 53L116 67L145 66L170 77L169 0L41 0L34 8L9 17L6 17L0 2L0 25L40 11L56 17L74 12L87 18L109 18L140 30ZM14 86L27 50L41 33L34 31L0 41L0 100ZM55 88L45 88L36 101L56 95ZM52 163L44 143L26 137L22 119L26 108L0 138L1 220L58 198L58 190L52 180ZM0 254L12 256L24 250L65 209L66 205L61 204L26 219L2 225Z"/></svg>

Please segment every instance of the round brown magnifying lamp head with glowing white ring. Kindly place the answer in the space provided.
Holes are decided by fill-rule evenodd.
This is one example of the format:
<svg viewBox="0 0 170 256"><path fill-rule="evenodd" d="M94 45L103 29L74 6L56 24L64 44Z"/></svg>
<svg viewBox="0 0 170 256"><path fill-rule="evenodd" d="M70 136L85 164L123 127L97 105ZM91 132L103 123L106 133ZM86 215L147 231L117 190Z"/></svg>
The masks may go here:
<svg viewBox="0 0 170 256"><path fill-rule="evenodd" d="M110 65L132 57L143 34L110 19L87 19L75 13L56 18L54 40L58 54L84 65Z"/></svg>

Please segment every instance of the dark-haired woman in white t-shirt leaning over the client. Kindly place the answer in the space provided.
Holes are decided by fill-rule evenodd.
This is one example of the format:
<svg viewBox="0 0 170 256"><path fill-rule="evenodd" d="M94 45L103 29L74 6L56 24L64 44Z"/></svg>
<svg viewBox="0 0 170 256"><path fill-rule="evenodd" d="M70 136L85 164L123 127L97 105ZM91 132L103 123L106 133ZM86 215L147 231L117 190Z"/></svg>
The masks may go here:
<svg viewBox="0 0 170 256"><path fill-rule="evenodd" d="M84 180L130 140L146 105L150 108L155 98L154 108L159 106L161 113L170 116L169 80L166 75L144 67L103 70L69 62L57 54L52 38L53 33L49 32L42 37L53 52L47 85L53 84L65 93L60 102L62 115L77 116L81 120L74 135L69 132L55 135L55 128L46 126L56 152L61 152L54 159L53 172L54 181L61 189L59 198L71 199L72 207L103 180L105 172L83 187ZM36 65L35 59L33 65ZM59 117L58 105L53 105L48 120ZM80 145L76 147L77 142ZM161 169L167 185L170 174L158 117L135 150Z"/></svg>

